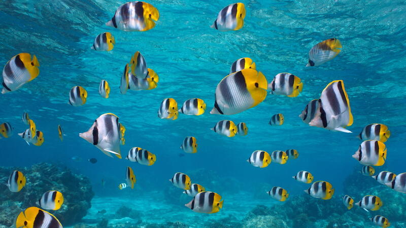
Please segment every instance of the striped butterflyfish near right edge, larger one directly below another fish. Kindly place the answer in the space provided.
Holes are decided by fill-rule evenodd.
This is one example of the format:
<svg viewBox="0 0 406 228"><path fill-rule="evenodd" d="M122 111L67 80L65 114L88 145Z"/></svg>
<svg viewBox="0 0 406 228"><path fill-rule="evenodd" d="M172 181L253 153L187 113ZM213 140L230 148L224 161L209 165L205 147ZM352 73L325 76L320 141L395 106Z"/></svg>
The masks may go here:
<svg viewBox="0 0 406 228"><path fill-rule="evenodd" d="M386 161L386 145L377 140L363 141L352 156L362 165L382 166Z"/></svg>

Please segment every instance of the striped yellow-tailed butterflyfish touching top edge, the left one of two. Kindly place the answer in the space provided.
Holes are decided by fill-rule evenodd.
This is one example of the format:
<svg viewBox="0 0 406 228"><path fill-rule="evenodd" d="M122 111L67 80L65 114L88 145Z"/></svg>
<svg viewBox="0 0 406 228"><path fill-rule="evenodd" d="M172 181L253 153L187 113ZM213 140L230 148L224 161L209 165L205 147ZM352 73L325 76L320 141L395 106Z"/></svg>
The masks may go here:
<svg viewBox="0 0 406 228"><path fill-rule="evenodd" d="M158 19L159 12L154 6L135 1L121 5L106 25L123 31L147 31L155 27Z"/></svg>

